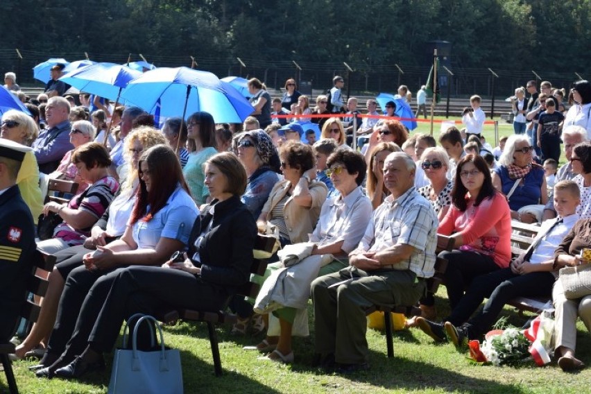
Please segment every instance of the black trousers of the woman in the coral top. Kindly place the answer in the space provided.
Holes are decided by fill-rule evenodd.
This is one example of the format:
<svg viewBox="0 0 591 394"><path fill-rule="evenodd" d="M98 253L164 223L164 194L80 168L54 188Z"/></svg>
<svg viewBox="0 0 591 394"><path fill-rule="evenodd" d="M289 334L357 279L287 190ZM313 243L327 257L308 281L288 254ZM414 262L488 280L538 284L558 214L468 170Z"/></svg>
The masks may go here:
<svg viewBox="0 0 591 394"><path fill-rule="evenodd" d="M475 277L497 271L499 266L492 257L467 250L447 250L440 252L439 257L447 259L445 270L445 287L449 305L454 309L464 295L464 289Z"/></svg>

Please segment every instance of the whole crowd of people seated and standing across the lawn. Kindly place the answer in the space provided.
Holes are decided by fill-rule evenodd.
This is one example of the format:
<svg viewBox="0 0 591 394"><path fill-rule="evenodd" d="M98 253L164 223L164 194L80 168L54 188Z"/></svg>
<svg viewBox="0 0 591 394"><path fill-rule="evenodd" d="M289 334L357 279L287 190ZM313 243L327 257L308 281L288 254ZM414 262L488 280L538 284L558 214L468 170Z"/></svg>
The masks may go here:
<svg viewBox="0 0 591 394"><path fill-rule="evenodd" d="M591 295L567 299L554 282L558 268L589 263L581 257L581 248L591 247L587 81L574 83L567 111L565 92L553 92L549 83L538 95L530 81L529 97L517 89L515 134L495 149L482 135L481 98L472 96L464 133L452 126L436 138L411 135L400 121L365 118L359 130L368 140L359 152L350 146L352 124L345 120L357 114L357 99L345 103L340 76L313 109L295 80L272 99L252 78L254 110L243 124L219 124L194 112L166 119L159 130L142 108L112 108L85 93L64 97L65 86L53 78L60 71L52 69L33 117L11 110L0 128L1 272L17 275L16 265L5 268L6 262L29 264L34 223L50 213L62 220L53 237L37 241L57 264L40 318L14 354L41 355L32 368L37 376L78 378L105 368L103 354L112 350L123 320L163 307L230 308L239 316L235 334L266 331L247 348L263 352L264 360L291 363L292 336L301 331L310 296L315 362L326 370L368 368L366 310L372 305L420 303L422 316L409 326L461 345L481 339L519 295L553 296L558 365L584 367L574 355L575 322L579 315L591 329ZM5 80L16 89L13 74ZM423 113L424 93L423 87L417 95ZM398 94L411 100L404 85ZM367 104L375 112L375 101ZM393 115L392 105L386 110ZM277 114L310 115L320 138ZM561 143L567 162L557 168ZM40 182L49 178L76 182L76 195L66 204L44 202ZM515 259L511 221L541 225L531 250ZM298 250L301 264L318 262L299 292L285 295L303 305L284 302L255 313L236 296L249 280L257 233L277 234L283 248ZM454 240L453 250L439 254L448 261L452 309L443 319L426 290L437 234ZM282 253L269 263L263 281L286 268ZM0 303L22 302L24 282L0 286L0 295ZM15 308L0 310L7 311L0 340L8 340Z"/></svg>

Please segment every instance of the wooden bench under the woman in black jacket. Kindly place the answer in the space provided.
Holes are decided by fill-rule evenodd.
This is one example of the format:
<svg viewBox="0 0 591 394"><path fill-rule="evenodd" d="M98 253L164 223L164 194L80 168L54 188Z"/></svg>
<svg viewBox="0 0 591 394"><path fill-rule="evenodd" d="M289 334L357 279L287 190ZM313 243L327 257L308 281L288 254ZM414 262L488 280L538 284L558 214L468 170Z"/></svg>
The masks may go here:
<svg viewBox="0 0 591 394"><path fill-rule="evenodd" d="M272 252L275 245L275 238L259 234L255 244L255 250L264 250ZM250 273L255 275L264 275L267 268L266 260L252 259L250 266ZM255 282L248 282L244 284L237 295L244 295L250 298L257 298L260 286ZM158 320L163 323L174 323L177 320L187 320L207 324L207 331L209 334L209 343L212 347L212 357L214 359L214 370L216 376L222 374L221 359L218 345L218 337L216 334L216 324L234 324L237 321L237 316L228 311L195 311L192 309L173 309L171 311L164 311L161 316L157 316Z"/></svg>

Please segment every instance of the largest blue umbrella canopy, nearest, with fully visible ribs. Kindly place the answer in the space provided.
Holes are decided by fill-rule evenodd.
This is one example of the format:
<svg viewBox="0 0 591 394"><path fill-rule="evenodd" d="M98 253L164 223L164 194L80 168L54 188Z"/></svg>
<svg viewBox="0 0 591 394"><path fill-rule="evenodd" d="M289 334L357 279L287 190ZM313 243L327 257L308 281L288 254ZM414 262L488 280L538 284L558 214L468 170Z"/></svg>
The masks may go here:
<svg viewBox="0 0 591 394"><path fill-rule="evenodd" d="M229 83L188 67L146 71L129 83L121 97L163 118L205 111L216 123L241 123L255 110Z"/></svg>

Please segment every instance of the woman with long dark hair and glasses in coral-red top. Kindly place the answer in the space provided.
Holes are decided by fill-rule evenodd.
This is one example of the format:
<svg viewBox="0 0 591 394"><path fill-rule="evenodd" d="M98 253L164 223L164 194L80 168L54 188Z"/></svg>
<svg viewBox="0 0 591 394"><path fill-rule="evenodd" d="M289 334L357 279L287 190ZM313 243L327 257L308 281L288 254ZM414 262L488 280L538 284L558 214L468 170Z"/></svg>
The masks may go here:
<svg viewBox="0 0 591 394"><path fill-rule="evenodd" d="M437 232L455 241L454 250L439 255L448 262L445 286L452 309L474 277L509 266L511 211L482 157L466 155L459 161L452 207Z"/></svg>

